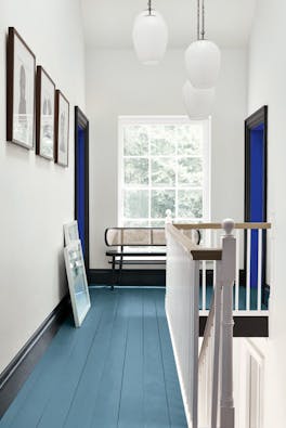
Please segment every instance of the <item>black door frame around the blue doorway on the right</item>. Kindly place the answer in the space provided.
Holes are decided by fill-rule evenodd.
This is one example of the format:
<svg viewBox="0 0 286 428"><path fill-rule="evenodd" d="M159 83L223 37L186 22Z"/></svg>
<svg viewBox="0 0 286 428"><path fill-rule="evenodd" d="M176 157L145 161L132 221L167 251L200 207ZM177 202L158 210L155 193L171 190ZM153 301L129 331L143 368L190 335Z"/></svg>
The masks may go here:
<svg viewBox="0 0 286 428"><path fill-rule="evenodd" d="M268 221L268 106L259 108L251 116L245 120L245 221L250 221L250 144L251 144L251 130L259 125L264 125L264 139L263 139L263 152L264 152L264 204L263 204L263 221ZM247 248L247 232L245 232L245 271L246 271L246 251ZM266 232L262 232L262 297L264 300L265 284L266 280Z"/></svg>

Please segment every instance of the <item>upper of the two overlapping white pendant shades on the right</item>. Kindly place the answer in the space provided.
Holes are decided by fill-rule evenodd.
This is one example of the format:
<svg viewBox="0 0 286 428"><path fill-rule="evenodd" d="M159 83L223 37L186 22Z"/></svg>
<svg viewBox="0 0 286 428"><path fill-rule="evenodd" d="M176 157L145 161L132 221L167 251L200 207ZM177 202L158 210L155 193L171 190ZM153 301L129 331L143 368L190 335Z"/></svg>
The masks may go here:
<svg viewBox="0 0 286 428"><path fill-rule="evenodd" d="M186 73L194 88L213 88L219 77L221 53L212 41L197 40L185 51Z"/></svg>

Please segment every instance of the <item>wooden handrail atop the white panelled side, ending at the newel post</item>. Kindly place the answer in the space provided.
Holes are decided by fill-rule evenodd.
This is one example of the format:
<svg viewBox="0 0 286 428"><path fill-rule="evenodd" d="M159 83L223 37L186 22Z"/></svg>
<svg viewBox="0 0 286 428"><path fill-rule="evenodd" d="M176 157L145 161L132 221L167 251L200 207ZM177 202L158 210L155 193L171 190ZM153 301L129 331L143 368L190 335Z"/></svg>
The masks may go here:
<svg viewBox="0 0 286 428"><path fill-rule="evenodd" d="M221 260L221 248L204 248L194 244L187 236L181 233L174 224L166 224L167 231L181 244L194 260Z"/></svg>

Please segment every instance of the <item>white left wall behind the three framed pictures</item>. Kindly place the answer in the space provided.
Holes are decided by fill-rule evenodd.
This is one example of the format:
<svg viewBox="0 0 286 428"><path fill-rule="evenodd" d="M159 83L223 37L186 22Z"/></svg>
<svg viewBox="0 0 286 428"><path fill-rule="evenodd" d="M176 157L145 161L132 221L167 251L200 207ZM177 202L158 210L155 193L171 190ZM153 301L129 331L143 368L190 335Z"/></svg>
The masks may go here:
<svg viewBox="0 0 286 428"><path fill-rule="evenodd" d="M79 0L0 0L0 372L66 293L63 223L74 218L74 106L84 108ZM5 37L14 26L70 102L69 168L5 142Z"/></svg>

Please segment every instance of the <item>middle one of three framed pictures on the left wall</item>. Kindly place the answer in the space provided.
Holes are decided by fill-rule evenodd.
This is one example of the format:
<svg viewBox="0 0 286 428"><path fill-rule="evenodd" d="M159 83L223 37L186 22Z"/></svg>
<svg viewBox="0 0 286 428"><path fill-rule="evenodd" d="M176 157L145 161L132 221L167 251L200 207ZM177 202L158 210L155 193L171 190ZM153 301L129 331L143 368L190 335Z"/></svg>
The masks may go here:
<svg viewBox="0 0 286 428"><path fill-rule="evenodd" d="M44 69L37 67L36 90L36 153L54 158L55 85Z"/></svg>

